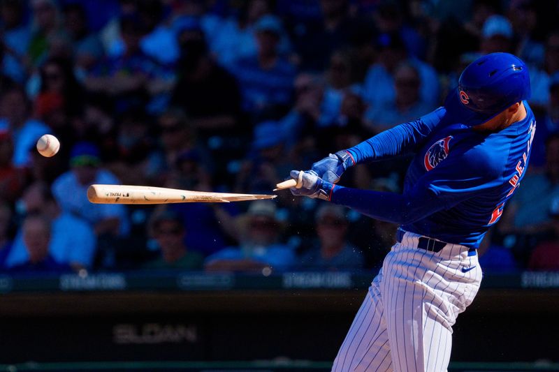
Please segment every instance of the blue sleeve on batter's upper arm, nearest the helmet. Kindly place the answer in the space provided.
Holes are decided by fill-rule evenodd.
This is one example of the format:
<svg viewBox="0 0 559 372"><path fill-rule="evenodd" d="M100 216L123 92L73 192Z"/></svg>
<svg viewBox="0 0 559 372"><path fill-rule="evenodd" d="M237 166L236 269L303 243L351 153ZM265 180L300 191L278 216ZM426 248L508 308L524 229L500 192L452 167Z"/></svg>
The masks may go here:
<svg viewBox="0 0 559 372"><path fill-rule="evenodd" d="M445 113L444 107L439 107L415 121L409 121L379 133L347 151L354 159L354 163L380 161L412 153L433 132Z"/></svg>

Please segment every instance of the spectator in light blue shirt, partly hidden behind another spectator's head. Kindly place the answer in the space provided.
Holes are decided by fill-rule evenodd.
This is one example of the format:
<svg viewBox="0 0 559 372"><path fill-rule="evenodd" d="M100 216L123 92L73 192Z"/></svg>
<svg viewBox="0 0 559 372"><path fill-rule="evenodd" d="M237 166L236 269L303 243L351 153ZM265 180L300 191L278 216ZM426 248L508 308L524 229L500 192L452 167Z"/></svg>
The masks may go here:
<svg viewBox="0 0 559 372"><path fill-rule="evenodd" d="M377 37L378 59L365 77L363 99L370 105L386 105L395 102L395 68L409 62L419 73L421 101L428 105L439 104L439 81L435 69L425 62L407 57L405 45L398 34L381 34Z"/></svg>

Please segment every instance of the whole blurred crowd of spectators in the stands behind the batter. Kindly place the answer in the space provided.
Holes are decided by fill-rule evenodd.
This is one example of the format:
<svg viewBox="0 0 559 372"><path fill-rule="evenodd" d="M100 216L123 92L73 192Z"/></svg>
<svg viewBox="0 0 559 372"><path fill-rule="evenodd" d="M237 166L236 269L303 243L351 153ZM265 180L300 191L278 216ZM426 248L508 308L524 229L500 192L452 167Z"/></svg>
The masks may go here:
<svg viewBox="0 0 559 372"><path fill-rule="evenodd" d="M379 267L396 226L289 191L124 206L87 186L270 193L434 110L490 52L529 65L537 131L481 265L559 270L558 15L558 0L1 0L1 270ZM341 183L398 193L407 161Z"/></svg>

